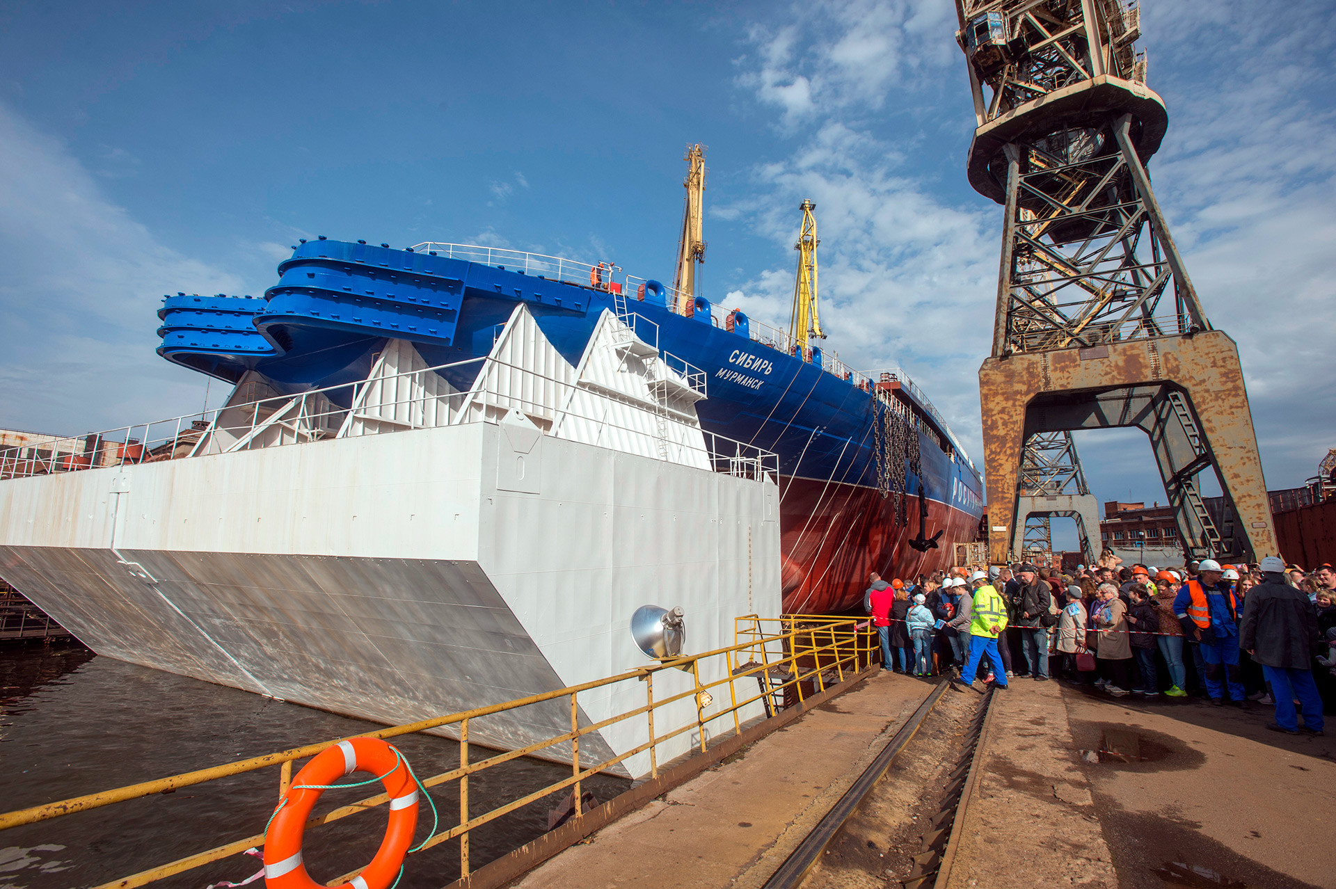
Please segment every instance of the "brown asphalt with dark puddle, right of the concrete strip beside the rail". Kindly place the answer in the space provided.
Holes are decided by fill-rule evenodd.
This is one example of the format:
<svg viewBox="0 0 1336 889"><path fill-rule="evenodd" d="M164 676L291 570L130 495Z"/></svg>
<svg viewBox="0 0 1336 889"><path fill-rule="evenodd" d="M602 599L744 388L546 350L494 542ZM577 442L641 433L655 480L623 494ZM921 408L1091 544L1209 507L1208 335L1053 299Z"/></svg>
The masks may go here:
<svg viewBox="0 0 1336 889"><path fill-rule="evenodd" d="M1063 689L1073 745L1134 733L1141 757L1082 762L1118 885L1336 886L1336 744L1285 735L1273 707ZM1329 721L1328 721L1329 725ZM1142 758L1144 757L1144 758Z"/></svg>

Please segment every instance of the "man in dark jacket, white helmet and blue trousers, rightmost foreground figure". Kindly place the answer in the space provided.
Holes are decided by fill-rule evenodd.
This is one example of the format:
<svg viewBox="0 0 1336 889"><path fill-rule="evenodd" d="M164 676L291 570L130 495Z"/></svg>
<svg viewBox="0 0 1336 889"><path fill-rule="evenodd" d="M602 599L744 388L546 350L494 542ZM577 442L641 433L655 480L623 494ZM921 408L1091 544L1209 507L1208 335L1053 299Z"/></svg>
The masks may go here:
<svg viewBox="0 0 1336 889"><path fill-rule="evenodd" d="M1272 731L1299 734L1295 697L1304 707L1304 731L1323 733L1323 699L1313 682L1317 654L1317 611L1308 594L1285 583L1285 563L1275 555L1261 561L1263 582L1248 590L1238 647L1253 655L1271 682L1276 699Z"/></svg>

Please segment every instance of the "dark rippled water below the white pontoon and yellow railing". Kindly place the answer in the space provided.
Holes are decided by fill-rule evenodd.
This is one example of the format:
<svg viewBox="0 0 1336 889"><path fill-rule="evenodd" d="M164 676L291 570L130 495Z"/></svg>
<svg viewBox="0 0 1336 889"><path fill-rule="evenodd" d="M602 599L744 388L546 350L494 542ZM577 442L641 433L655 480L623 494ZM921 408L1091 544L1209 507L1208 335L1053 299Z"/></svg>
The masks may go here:
<svg viewBox="0 0 1336 889"><path fill-rule="evenodd" d="M379 726L96 657L79 645L0 647L0 812L374 727ZM418 777L446 772L460 762L458 745L445 738L414 734L395 738L394 744ZM470 760L485 753L470 745ZM516 760L480 773L469 785L470 813L477 817L569 774L569 766L534 760ZM584 782L600 802L627 786L612 777ZM326 792L315 812L373 792L379 790ZM552 794L473 832L473 868L546 830L548 810L561 796ZM458 824L453 784L433 788L432 798L442 828ZM261 833L277 802L278 768L267 768L4 830L0 889L67 889L116 880ZM381 806L310 830L303 854L311 877L325 882L369 862L385 822ZM430 808L422 804L418 842L430 825ZM458 841L452 840L411 856L399 888L440 888L456 880L458 848ZM152 885L204 889L220 880L240 881L258 869L258 858L232 856Z"/></svg>

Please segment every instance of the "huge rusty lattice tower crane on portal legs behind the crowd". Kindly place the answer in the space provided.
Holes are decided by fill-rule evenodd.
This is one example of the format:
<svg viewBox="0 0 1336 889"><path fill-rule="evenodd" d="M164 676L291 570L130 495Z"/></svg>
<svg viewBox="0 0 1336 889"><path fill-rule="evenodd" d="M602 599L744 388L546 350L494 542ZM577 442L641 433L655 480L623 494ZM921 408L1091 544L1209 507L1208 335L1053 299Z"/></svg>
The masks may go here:
<svg viewBox="0 0 1336 889"><path fill-rule="evenodd" d="M1234 342L1210 326L1146 163L1169 124L1122 0L957 0L977 129L970 184L1006 211L993 354L979 368L989 557L1006 561L1033 435L1137 427L1186 554L1220 537L1213 469L1248 537L1276 553ZM1023 521L1023 519L1022 519Z"/></svg>

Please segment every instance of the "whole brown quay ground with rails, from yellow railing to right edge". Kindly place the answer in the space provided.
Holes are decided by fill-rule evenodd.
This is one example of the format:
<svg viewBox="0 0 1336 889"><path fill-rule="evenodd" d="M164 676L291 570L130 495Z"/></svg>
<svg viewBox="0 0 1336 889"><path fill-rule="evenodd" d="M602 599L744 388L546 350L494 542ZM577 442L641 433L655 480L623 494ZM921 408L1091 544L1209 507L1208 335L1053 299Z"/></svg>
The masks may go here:
<svg viewBox="0 0 1336 889"><path fill-rule="evenodd" d="M517 885L763 886L933 687L876 675ZM995 698L938 886L1336 886L1336 733L1059 682L1014 679ZM910 877L982 702L941 698L804 886Z"/></svg>

